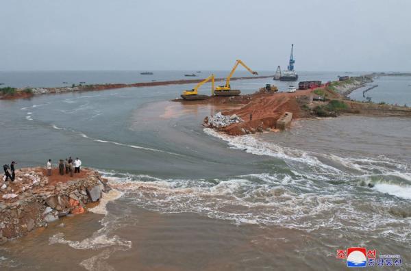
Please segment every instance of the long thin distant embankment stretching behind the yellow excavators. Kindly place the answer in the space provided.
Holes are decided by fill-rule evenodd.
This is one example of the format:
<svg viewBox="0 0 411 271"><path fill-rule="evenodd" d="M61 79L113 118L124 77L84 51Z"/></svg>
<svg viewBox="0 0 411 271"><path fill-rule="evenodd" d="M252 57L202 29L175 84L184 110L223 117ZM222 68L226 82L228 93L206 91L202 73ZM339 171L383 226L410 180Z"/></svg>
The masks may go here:
<svg viewBox="0 0 411 271"><path fill-rule="evenodd" d="M263 79L273 77L273 75L255 76L255 77L233 77L231 80L247 80L247 79ZM225 81L226 78L216 78L214 81ZM79 86L66 86L66 87L56 87L56 88L22 88L16 89L13 94L1 94L0 100L10 100L10 99L22 99L29 98L38 94L56 94L56 93L66 93L66 92L86 92L86 91L97 91L97 90L112 90L118 88L142 88L142 87L153 87L153 86L167 86L167 85L182 85L186 83L199 83L203 79L184 79L184 80L172 80L172 81L151 81L151 82L141 82L141 83L104 83L104 84L92 84L92 85L79 85ZM29 90L29 91L27 91Z"/></svg>

